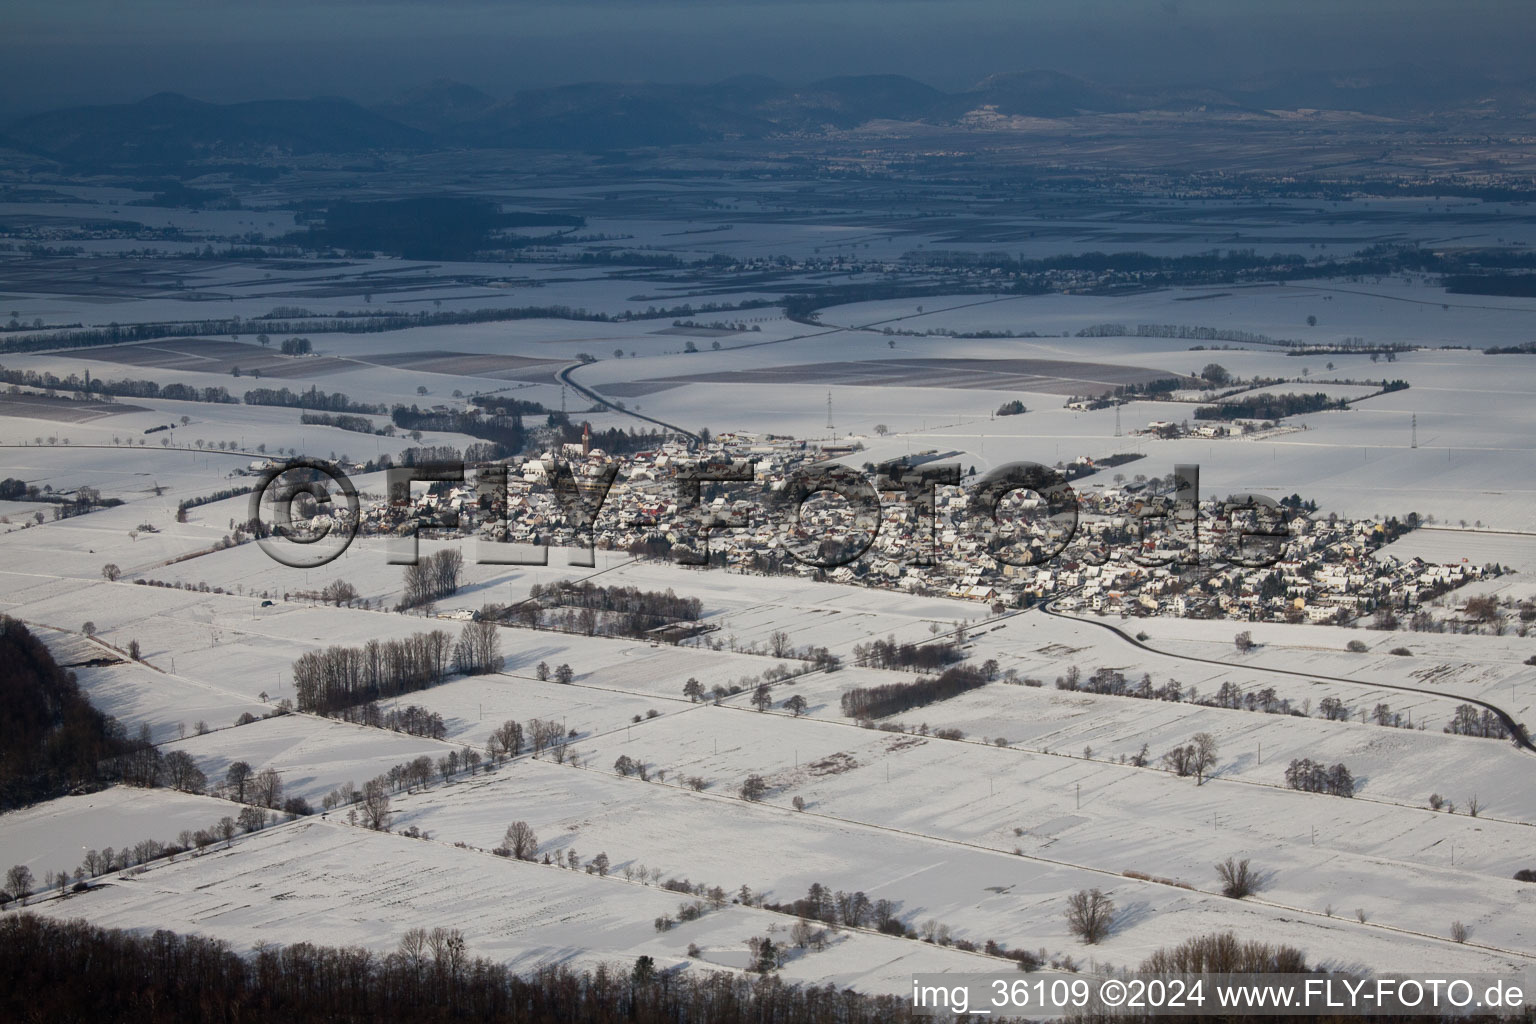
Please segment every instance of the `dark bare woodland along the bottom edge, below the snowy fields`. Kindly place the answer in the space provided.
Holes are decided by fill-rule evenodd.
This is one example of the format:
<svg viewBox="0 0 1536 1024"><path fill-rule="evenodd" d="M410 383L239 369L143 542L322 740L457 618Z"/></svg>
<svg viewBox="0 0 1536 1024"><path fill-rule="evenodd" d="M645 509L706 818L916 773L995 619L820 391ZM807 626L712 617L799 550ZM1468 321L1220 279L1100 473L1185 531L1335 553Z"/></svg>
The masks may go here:
<svg viewBox="0 0 1536 1024"><path fill-rule="evenodd" d="M233 1024L235 1021L495 1021L498 1024L885 1024L906 999L786 984L777 976L659 972L654 964L565 966L516 975L470 956L455 929L412 929L399 947L264 946L169 930L135 933L31 913L0 923L0 1015L8 1019Z"/></svg>

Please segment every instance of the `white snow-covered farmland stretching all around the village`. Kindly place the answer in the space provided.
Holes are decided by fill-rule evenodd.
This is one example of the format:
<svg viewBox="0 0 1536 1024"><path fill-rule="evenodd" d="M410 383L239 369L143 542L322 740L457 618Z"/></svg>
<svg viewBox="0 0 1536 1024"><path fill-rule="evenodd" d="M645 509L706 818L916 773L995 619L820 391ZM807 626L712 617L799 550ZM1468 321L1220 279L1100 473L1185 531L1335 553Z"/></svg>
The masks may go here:
<svg viewBox="0 0 1536 1024"><path fill-rule="evenodd" d="M777 190L773 183L743 189L753 193L736 203L770 209ZM637 183L633 195L630 186L622 192L631 200L642 192L665 198L662 186L650 183ZM146 209L120 206L132 195L83 190L78 209L69 209L149 218ZM542 198L559 197L550 190ZM1387 232L1392 207L1369 206L1376 230ZM48 212L61 209L51 204ZM1313 221L1332 216L1339 218L1336 238L1319 244L1359 243L1359 224L1332 207L1293 215L1306 227L1299 221L1270 226L1252 244L1286 250L1301 238L1318 238L1321 224ZM1227 213L1212 207L1210 216ZM164 223L218 233L247 230L253 218L270 220L272 230L292 227L290 215L278 209L175 212ZM1213 223L1177 230L1158 224L1161 241L1147 239L1147 249L1201 250L1209 241L1203 232L1215 230ZM892 238L854 218L800 227L746 218L736 224L722 212L705 227L720 224L727 229L679 236L673 223L619 215L593 218L590 229L680 255L814 255L868 246L897 258L919 243L965 247L942 229ZM1094 218L1020 220L1015 227L1025 232L1020 252L1034 255L1094 239L1107 247L1107 239L1140 230ZM1028 238L1035 229L1041 238ZM1232 230L1223 223L1224 236ZM1244 244L1250 244L1247 236ZM568 304L613 313L674 301L670 296L696 284L665 275L636 281L571 264L347 264L344 282L332 293L318 267L267 279L238 264L203 261L195 272L186 270L192 286L184 295L29 295L8 302L23 319L86 324L260 316L280 304L316 313L416 310L422 302L438 309L435 301L441 309ZM379 287L378 295L364 290L369 281L393 273L412 275L412 284L393 292ZM464 284L455 279L461 275L505 278L505 287ZM710 295L716 301L748 296L745 290ZM264 376L260 385L315 385L355 401L407 405L461 404L452 398L455 390L496 391L548 408L568 404L573 416L590 418L594 428L648 428L616 410L582 411L590 399L554 381L554 370L590 353L598 361L573 372L584 387L611 388L617 398L624 385L639 385L624 398L631 410L688 428L817 438L829 433L831 415L831 433L865 445L851 459L856 465L931 448L957 450L978 471L1014 459L1140 451L1147 457L1134 471L1149 474L1198 462L1206 494L1298 493L1318 500L1322 516L1418 511L1435 516L1436 528L1415 531L1382 554L1502 562L1516 573L1467 594L1528 599L1536 593L1536 356L1481 352L1528 341L1536 301L1447 295L1410 276L1120 296L926 296L826 309L820 327L788 321L777 309L720 316L759 330L723 335L719 350L702 336L670 333L670 321L530 319L316 335L315 358L293 359L281 376ZM1309 325L1309 316L1318 322ZM1389 364L1362 355L1295 358L1258 344L1195 352L1200 342L1172 338L1075 336L1112 322L1132 330L1138 324L1204 325L1307 344L1358 336L1424 348ZM886 335L888 327L1014 336ZM684 350L690 339L700 352ZM252 358L272 358L253 333L240 344ZM616 358L614 350L624 355ZM120 361L124 353L88 348L6 355L5 365L60 376L84 370L109 379L152 376L238 395L258 384L249 375L233 378L221 362L237 356L244 359L246 352L226 352L201 367L154 368ZM498 368L496 359L505 365ZM1167 373L1198 373L1215 361L1244 378L1286 378L1266 388L1272 393L1321 390L1358 401L1344 411L1292 418L1287 425L1296 430L1255 439L1160 441L1132 431L1157 419L1193 421L1192 405L1127 402L1120 408L1123 430L1117 430L1115 410L1066 408L1058 390L937 387L912 379L891 387L828 387L817 370L828 362L952 359L1049 359ZM793 379L731 378L783 367L797 367L788 375ZM700 376L713 379L690 379ZM1366 398L1392 378L1410 387ZM994 416L1014 399L1029 411ZM693 964L690 970L742 969L748 936L779 936L794 923L783 913L727 903L659 932L653 921L676 913L684 897L654 884L654 877L648 877L651 884L633 878L644 863L659 869L660 878L719 884L730 894L745 884L770 901L793 901L811 883L862 890L871 900L892 901L897 917L919 930L934 920L957 938L1043 947L1078 961L1091 955L1100 964L1134 966L1158 947L1223 929L1295 944L1310 963L1329 967L1501 970L1536 963L1536 886L1513 880L1516 870L1536 869L1536 760L1505 742L1442 732L1456 705L1473 699L1533 720L1536 666L1527 663L1530 639L1514 628L1505 636L1467 636L1104 620L1127 634L1144 633L1143 648L1097 622L1038 609L994 617L974 602L687 570L605 551L591 568L568 563L565 551L553 551L547 567L481 565L470 542L462 545L462 586L438 602L439 617L396 614L386 609L401 600L402 573L389 563L379 540L359 540L321 570L293 570L253 543L214 550L246 517L246 497L194 507L187 522L177 522L177 505L250 484L238 471L260 456L258 445L361 461L416 442L304 425L293 408L161 399L123 404L143 411L63 422L22 402L9 411L0 405L0 477L60 491L95 487L124 502L74 519L45 514L41 524L34 513L51 511L48 505L0 505L6 520L0 524L0 611L29 623L60 663L74 666L88 697L129 732L147 726L163 751L192 755L215 783L233 761L272 768L286 795L315 804L336 786L362 786L419 755L436 760L465 746L484 751L492 729L508 718L561 722L574 732L578 765L525 755L495 772L438 778L392 795L393 834L347 824L344 809L332 811L240 837L227 849L218 844L203 855L152 863L141 874L112 874L88 894L34 900L45 913L197 930L237 947L303 938L387 950L410 927L449 924L464 929L473 953L519 969L591 966L641 953L664 966ZM181 416L190 422L181 425ZM174 431L143 433L172 422ZM877 424L889 433L877 436ZM161 438L172 447L161 447ZM146 444L135 444L140 439ZM240 451L197 450L200 439L233 442ZM462 447L470 441L427 434L421 444ZM379 476L359 476L356 484L367 494L384 487ZM444 542L421 547L433 553ZM103 579L106 563L120 567L121 579ZM261 717L295 697L292 665L306 651L433 628L456 634L461 619L445 616L519 600L536 583L588 576L697 597L703 622L716 628L710 639L725 649L508 626L499 629L504 671L384 702L386 711L419 705L436 712L444 740L300 712ZM137 585L135 579L170 586ZM370 608L323 606L300 597L336 579L353 583ZM1461 599L1458 593L1452 600ZM84 636L86 623L94 639ZM960 623L969 628L968 659L995 659L1001 669L1043 686L994 682L882 723L900 722L908 732L860 728L839 703L852 686L911 682L906 672L849 665L806 674L773 688L768 714L751 709L750 692L720 706L682 694L688 679L710 689L779 665L780 659L759 651L780 631L794 646L826 646L851 662L854 646L871 639L925 642ZM1250 629L1258 646L1238 654L1238 629ZM1367 651L1347 651L1350 640L1364 642ZM132 642L143 660L117 660ZM1399 646L1410 654L1390 652ZM571 685L541 682L541 662L570 665ZM1055 677L1074 665L1084 676L1114 668L1132 682L1146 672L1155 686L1177 679L1203 695L1223 683L1249 692L1272 686L1309 711L1336 697L1352 714L1347 722L1324 722L1315 711L1310 717L1270 715L1054 688ZM785 711L791 694L806 699L805 715ZM1362 722L1378 703L1421 728ZM247 714L257 720L237 726ZM198 723L210 731L198 734ZM920 726L928 726L926 734L912 732ZM960 729L965 740L937 738L937 729ZM1197 732L1209 732L1220 749L1204 785L1158 766L1164 751ZM1149 766L1124 763L1143 746ZM614 761L621 755L644 761L651 781L619 777ZM1286 789L1292 758L1347 765L1356 798ZM665 771L665 780L657 771ZM754 774L766 785L760 803L739 795ZM703 789L688 788L690 777L702 778ZM1430 811L1430 794L1455 801L1456 812ZM797 797L803 811L793 804ZM1478 817L1467 812L1473 798ZM238 814L237 804L163 789L118 786L69 795L0 817L0 866L28 864L38 877L72 870L88 847L166 841L226 814ZM493 857L488 851L515 820L535 827L541 858L568 857L574 849L587 863L604 852L611 874ZM410 827L429 838L401 835ZM1227 857L1250 858L1260 869L1256 897L1220 895L1213 864ZM1083 947L1063 920L1066 897L1089 887L1109 892L1118 907L1112 933L1097 949ZM1464 944L1450 940L1458 920L1471 927ZM697 960L687 955L690 943L700 947ZM797 952L783 975L905 992L914 972L995 969L1012 967L954 947L854 929L826 950Z"/></svg>

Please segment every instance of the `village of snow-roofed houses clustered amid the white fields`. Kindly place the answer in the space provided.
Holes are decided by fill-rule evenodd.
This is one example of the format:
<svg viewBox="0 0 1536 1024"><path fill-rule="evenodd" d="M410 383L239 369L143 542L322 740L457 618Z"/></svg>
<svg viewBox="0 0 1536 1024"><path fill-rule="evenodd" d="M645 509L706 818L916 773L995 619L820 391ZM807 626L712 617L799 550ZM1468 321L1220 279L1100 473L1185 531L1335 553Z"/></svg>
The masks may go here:
<svg viewBox="0 0 1536 1024"><path fill-rule="evenodd" d="M1143 528L1146 510L1164 500L1172 476L1126 481L1115 474L1114 484L1095 482L1095 467L1086 456L1061 467L1078 481L1075 533L1040 514L1049 510L1023 491L1000 510L1000 520L1009 522L998 528L972 500L978 479L974 470L958 487L932 488L929 514L891 476L866 464L862 477L876 488L880 504L872 542L868 530L849 528L849 505L842 499L809 500L799 514L776 500L797 471L848 454L846 447L814 441L720 434L702 445L664 441L650 451L616 459L585 441L508 461L505 488L495 477L487 485L482 474L479 481L438 484L406 504L366 504L361 527L364 533L419 530L553 547L587 543L590 537L604 550L690 563L703 560L707 537L708 563L731 571L794 573L1005 608L1054 599L1063 609L1115 616L1341 622L1381 609L1412 611L1433 596L1499 571L1376 554L1382 543L1412 528L1412 519L1379 524L1296 516L1266 559L1270 563L1224 563L1210 556L1235 527L1223 519L1218 502L1201 505L1198 553L1192 559L1189 537L1181 533L1187 524ZM949 454L958 453L925 453L909 462L938 464ZM697 502L684 497L676 479L684 467L748 461L751 481L707 482ZM588 508L607 474L613 474L598 516L588 516L590 530L578 528L582 516L568 488L564 499L556 496L565 474L578 482ZM1017 536L1008 533L1011 522L1025 524ZM700 524L710 528L703 531ZM825 565L808 565L791 548ZM1012 563L1026 560L1031 551L1037 559L1051 557L1034 565Z"/></svg>

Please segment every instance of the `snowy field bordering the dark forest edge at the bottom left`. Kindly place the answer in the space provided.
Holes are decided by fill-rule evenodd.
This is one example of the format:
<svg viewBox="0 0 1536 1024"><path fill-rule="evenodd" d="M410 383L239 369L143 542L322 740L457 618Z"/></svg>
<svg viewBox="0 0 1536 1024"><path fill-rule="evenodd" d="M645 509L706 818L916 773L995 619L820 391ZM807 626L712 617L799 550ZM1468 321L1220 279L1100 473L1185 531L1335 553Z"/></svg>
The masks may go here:
<svg viewBox="0 0 1536 1024"><path fill-rule="evenodd" d="M742 969L743 940L782 940L782 915L740 906L657 933L679 894L610 875L502 860L439 840L412 840L318 818L267 829L230 849L155 864L104 887L34 903L41 913L218 935L240 947L306 941L393 950L412 927L458 927L475 955L519 970L596 967L651 955L659 967ZM702 956L687 956L688 944ZM785 967L793 981L902 992L919 970L989 970L1001 963L868 932L845 933Z"/></svg>

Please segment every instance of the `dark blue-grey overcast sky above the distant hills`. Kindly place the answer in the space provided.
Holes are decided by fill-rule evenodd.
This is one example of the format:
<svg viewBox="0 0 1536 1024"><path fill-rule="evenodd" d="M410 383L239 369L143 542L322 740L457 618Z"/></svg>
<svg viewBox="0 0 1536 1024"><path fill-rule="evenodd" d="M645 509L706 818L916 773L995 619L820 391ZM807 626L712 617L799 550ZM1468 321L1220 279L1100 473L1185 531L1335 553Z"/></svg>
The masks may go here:
<svg viewBox="0 0 1536 1024"><path fill-rule="evenodd" d="M1435 63L1525 77L1530 0L5 0L0 115L174 91L375 101L590 80L995 71L1192 83Z"/></svg>

